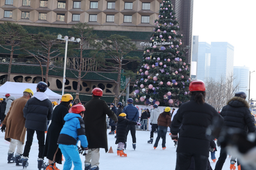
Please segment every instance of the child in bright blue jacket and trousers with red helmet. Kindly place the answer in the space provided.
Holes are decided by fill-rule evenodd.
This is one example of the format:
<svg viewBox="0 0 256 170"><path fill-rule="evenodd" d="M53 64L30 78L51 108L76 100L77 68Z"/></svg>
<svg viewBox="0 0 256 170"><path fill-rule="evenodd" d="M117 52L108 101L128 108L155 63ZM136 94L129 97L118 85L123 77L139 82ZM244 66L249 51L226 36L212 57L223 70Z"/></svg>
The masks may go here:
<svg viewBox="0 0 256 170"><path fill-rule="evenodd" d="M80 140L81 146L88 153L88 142L84 130L84 117L85 108L83 105L77 104L70 108L70 113L64 117L65 124L60 131L58 138L59 148L65 157L63 170L70 170L72 162L74 170L82 170L82 162L79 156L77 143ZM85 155L84 154L84 155Z"/></svg>

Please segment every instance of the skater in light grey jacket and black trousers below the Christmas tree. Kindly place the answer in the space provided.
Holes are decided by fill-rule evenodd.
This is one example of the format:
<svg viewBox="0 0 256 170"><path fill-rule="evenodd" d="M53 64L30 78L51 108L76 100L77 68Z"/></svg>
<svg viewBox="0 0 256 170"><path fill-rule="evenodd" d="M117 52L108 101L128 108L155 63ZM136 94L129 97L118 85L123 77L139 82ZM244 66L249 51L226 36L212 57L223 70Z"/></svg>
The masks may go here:
<svg viewBox="0 0 256 170"><path fill-rule="evenodd" d="M158 108L158 105L154 104L153 109L151 110L151 114L150 114L151 131L150 131L150 140L148 141L148 143L153 143L154 132L157 130L156 128L158 127L157 119L160 114L161 114L161 111Z"/></svg>

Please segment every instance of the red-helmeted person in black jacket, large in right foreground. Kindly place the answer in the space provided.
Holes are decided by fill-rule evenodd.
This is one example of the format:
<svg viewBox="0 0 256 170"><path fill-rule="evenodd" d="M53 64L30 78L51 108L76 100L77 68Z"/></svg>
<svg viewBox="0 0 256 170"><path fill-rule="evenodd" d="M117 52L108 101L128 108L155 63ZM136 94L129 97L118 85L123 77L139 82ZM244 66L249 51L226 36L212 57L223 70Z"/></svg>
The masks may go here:
<svg viewBox="0 0 256 170"><path fill-rule="evenodd" d="M178 141L176 170L187 170L192 157L195 170L206 170L210 146L206 135L211 135L207 134L206 130L216 124L215 122L220 123L219 127L221 127L224 119L214 107L205 103L205 84L202 80L190 82L189 91L190 101L180 106L170 125L171 137ZM220 131L213 132L213 135L220 133Z"/></svg>

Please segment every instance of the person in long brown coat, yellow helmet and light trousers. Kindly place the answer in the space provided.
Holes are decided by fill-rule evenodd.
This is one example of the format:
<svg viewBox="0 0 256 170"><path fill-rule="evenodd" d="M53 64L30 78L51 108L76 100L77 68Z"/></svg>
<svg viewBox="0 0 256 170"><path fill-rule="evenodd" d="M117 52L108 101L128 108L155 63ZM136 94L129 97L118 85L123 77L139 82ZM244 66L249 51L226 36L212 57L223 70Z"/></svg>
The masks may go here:
<svg viewBox="0 0 256 170"><path fill-rule="evenodd" d="M10 142L8 151L8 163L16 163L16 166L20 166L22 163L21 154L23 152L23 144L26 135L25 121L23 116L23 108L26 102L33 96L31 89L26 89L23 92L23 96L12 102L10 110L8 111L1 131L5 131L4 139ZM5 129L6 128L6 129ZM18 145L18 146L17 146ZM15 148L17 146L15 158L13 156Z"/></svg>

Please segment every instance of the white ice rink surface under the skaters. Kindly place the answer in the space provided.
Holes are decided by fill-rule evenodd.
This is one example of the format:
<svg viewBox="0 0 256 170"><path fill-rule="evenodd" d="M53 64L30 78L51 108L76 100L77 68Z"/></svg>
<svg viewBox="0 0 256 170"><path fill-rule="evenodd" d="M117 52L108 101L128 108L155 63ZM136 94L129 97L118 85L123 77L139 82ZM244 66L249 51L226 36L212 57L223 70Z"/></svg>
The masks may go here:
<svg viewBox="0 0 256 170"><path fill-rule="evenodd" d="M107 133L109 133L108 129ZM114 135L108 135L108 148L112 147L114 153L105 153L104 149L100 149L100 170L175 170L176 166L176 148L174 147L174 142L171 140L170 132L167 132L166 136L166 150L162 150L162 139L158 143L158 147L154 150L153 145L157 134L154 133L153 144L148 144L147 141L150 139L150 131L136 131L136 150L132 149L132 137L130 133L127 139L127 148L124 152L127 157L120 157L116 154L117 145L115 145L116 139ZM46 135L46 134L45 134ZM25 138L26 141L26 138ZM0 168L1 170L21 170L22 166L16 167L15 163L7 164L7 153L9 148L9 142L4 140L4 133L0 132ZM80 144L79 144L80 145ZM216 158L220 155L220 147L217 148ZM34 141L31 146L30 155L28 159L27 170L38 170L37 168L37 158L38 158L38 141L36 138L36 133L34 135ZM80 154L80 158L83 164L82 169L84 169L84 156ZM65 158L64 158L65 160ZM209 160L214 170L215 164L210 158ZM48 159L45 158L45 162ZM62 170L64 161L62 164L56 164L56 166ZM223 166L223 170L230 170L230 158L226 159ZM73 170L74 167L72 167Z"/></svg>

